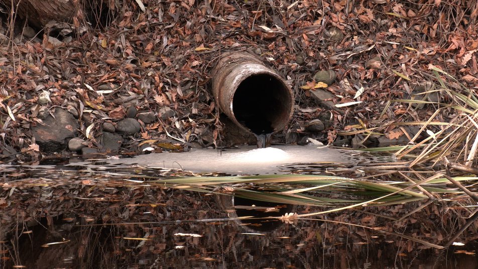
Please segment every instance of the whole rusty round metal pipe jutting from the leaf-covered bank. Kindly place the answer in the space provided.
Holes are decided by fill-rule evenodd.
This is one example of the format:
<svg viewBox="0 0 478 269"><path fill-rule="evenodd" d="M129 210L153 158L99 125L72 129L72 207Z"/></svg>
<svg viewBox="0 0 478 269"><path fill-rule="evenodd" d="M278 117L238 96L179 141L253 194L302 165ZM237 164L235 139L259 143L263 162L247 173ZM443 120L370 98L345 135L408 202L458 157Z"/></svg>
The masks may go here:
<svg viewBox="0 0 478 269"><path fill-rule="evenodd" d="M284 79L246 52L223 55L212 71L216 106L237 126L255 134L284 129L293 112L293 93Z"/></svg>

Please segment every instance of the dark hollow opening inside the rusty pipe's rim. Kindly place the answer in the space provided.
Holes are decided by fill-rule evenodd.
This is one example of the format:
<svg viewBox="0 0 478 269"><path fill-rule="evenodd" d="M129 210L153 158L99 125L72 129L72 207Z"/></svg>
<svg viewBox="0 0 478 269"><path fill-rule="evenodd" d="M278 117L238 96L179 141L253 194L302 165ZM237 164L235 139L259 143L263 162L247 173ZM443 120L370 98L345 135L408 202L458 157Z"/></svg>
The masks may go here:
<svg viewBox="0 0 478 269"><path fill-rule="evenodd" d="M246 78L237 87L232 111L239 123L255 134L268 134L289 121L291 96L288 88L270 74Z"/></svg>

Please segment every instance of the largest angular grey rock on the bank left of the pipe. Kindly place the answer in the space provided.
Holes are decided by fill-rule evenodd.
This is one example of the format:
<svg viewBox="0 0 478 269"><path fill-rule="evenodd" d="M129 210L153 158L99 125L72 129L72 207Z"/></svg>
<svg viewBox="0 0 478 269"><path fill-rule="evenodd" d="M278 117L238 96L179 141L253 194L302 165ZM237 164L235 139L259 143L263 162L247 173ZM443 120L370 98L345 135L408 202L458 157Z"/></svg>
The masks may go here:
<svg viewBox="0 0 478 269"><path fill-rule="evenodd" d="M32 127L35 140L45 152L65 149L68 141L76 137L78 128L78 121L66 110L57 108L53 115L55 118L48 115L43 120L44 125L37 124Z"/></svg>

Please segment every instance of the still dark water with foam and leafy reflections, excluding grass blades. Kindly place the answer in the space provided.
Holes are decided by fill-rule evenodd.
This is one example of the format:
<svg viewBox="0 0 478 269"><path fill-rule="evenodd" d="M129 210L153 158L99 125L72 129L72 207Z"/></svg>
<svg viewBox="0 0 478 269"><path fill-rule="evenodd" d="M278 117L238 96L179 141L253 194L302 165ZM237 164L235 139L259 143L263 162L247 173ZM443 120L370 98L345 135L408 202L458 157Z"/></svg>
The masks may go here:
<svg viewBox="0 0 478 269"><path fill-rule="evenodd" d="M350 168L394 160L287 146L3 165L0 268L476 268L476 221L456 239L464 245L444 249L370 229L442 245L470 216L444 201L350 209L312 220L242 219L327 207L173 190L142 177L185 175L166 168L323 174L337 163Z"/></svg>

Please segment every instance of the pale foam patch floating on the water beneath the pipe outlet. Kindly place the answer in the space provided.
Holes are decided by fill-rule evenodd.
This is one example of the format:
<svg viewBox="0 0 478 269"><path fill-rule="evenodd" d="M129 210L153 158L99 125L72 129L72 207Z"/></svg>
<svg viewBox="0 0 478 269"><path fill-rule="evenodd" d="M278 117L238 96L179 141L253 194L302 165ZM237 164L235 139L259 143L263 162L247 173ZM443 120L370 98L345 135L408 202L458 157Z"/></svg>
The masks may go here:
<svg viewBox="0 0 478 269"><path fill-rule="evenodd" d="M355 157L353 150L337 150L308 146L273 146L256 148L192 149L181 153L152 153L134 158L106 160L114 165L142 165L188 170L198 173L224 172L230 174L287 173L284 165L291 163L357 163L367 157ZM358 159L357 159L358 158Z"/></svg>

